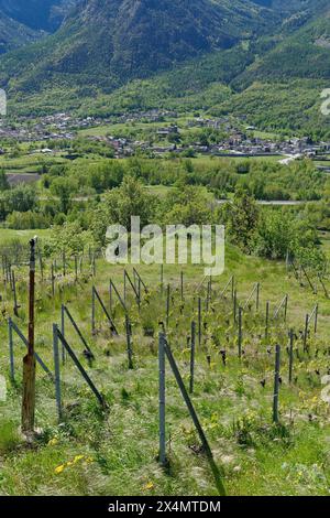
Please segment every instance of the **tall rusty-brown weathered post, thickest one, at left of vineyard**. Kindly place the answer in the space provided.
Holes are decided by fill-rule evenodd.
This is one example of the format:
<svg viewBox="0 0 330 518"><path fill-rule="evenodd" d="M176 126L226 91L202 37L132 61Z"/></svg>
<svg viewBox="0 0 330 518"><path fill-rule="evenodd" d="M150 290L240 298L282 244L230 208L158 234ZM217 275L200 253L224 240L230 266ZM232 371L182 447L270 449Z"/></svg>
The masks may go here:
<svg viewBox="0 0 330 518"><path fill-rule="evenodd" d="M35 239L30 241L29 348L23 359L22 432L32 435L35 420L34 356Z"/></svg>

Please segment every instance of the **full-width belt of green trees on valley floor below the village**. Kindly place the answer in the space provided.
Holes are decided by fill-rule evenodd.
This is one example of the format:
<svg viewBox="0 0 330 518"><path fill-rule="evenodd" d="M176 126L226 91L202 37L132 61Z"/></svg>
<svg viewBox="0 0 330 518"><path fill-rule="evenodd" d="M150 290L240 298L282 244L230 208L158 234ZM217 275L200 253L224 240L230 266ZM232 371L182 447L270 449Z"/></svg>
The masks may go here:
<svg viewBox="0 0 330 518"><path fill-rule="evenodd" d="M231 201L239 191L254 199L315 202L307 204L308 218L316 227L330 229L327 203L330 180L322 172L316 171L312 162L294 162L287 166L271 161L220 161L216 158L132 158L127 161L61 163L47 168L40 186L18 185L13 188L10 188L4 172L0 171L0 220L14 229L62 225L70 218L75 219L77 212L85 214L86 206L98 206L101 199L130 179L144 187L165 186L172 187L170 191L173 187L180 191L191 187L189 192L196 192L206 206L210 198ZM209 193L207 201L201 192ZM173 201L174 206L176 203ZM165 211L165 219L172 214L173 207ZM196 209L194 214L197 214Z"/></svg>

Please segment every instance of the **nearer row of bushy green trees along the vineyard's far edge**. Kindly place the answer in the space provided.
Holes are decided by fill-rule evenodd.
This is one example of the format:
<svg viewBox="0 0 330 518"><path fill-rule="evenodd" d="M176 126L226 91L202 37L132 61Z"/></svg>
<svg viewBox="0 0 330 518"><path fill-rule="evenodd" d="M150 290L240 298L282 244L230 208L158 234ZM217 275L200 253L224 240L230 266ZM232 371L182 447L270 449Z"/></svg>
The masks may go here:
<svg viewBox="0 0 330 518"><path fill-rule="evenodd" d="M47 251L58 252L65 246L75 253L90 245L105 247L108 226L120 224L130 230L131 216L140 216L142 226L224 225L227 239L244 253L276 260L289 255L314 274L324 276L328 269L315 222L305 207L261 208L241 188L231 202L219 205L210 202L205 190L190 185L156 198L132 176L125 176L121 186L101 201L89 203L84 211L72 211L65 224L53 229Z"/></svg>

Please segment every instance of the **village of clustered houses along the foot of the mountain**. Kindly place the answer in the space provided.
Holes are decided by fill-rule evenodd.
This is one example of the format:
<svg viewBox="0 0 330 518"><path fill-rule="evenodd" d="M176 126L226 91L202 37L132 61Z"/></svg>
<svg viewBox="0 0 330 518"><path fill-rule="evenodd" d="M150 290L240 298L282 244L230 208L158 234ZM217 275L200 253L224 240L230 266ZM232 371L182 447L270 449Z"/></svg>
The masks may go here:
<svg viewBox="0 0 330 518"><path fill-rule="evenodd" d="M148 129L147 138L128 137L125 133L141 133ZM107 127L109 130L107 131ZM98 128L101 131L98 131ZM135 129L135 131L134 131ZM206 142L205 139L182 139L183 134L194 130L212 130L219 133L218 141ZM122 133L122 134L120 134ZM195 133L194 133L195 134ZM108 119L85 117L78 118L68 114L56 114L41 117L37 120L21 118L15 122L0 122L0 153L6 154L3 142L37 142L40 152L56 153L56 141L74 141L77 137L90 141L103 142L113 150L114 158L134 155L145 152L148 155L166 153L201 153L220 157L284 157L288 159L317 158L330 152L330 142L312 142L308 137L286 137L258 131L254 126L246 126L242 120L229 117L208 118L199 114L195 117L180 116L173 111L150 110L130 112ZM187 139L186 139L187 140ZM47 142L52 142L50 148ZM55 142L55 144L54 144ZM33 145L31 152L33 152ZM329 166L330 169L330 166Z"/></svg>

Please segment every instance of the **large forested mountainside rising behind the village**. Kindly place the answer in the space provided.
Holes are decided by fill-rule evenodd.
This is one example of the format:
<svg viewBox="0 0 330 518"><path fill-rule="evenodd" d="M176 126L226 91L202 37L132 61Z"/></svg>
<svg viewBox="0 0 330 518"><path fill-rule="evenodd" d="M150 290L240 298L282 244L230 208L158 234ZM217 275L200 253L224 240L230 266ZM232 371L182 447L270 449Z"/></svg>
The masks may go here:
<svg viewBox="0 0 330 518"><path fill-rule="evenodd" d="M45 0L34 26L68 3ZM16 112L162 106L323 131L329 0L80 0L66 13L54 34L1 56Z"/></svg>

